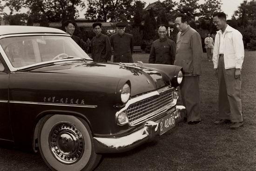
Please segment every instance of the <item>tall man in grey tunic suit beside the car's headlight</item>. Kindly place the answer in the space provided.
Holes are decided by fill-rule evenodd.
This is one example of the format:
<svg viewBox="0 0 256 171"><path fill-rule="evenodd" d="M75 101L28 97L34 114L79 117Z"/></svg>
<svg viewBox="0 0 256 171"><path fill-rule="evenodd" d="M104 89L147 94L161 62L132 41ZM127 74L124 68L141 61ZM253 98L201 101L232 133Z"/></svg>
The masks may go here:
<svg viewBox="0 0 256 171"><path fill-rule="evenodd" d="M174 65L183 69L183 79L180 85L183 105L186 107L186 118L189 125L201 122L201 98L199 91L199 76L201 75L202 43L201 36L189 26L189 18L179 14L175 19L177 48Z"/></svg>

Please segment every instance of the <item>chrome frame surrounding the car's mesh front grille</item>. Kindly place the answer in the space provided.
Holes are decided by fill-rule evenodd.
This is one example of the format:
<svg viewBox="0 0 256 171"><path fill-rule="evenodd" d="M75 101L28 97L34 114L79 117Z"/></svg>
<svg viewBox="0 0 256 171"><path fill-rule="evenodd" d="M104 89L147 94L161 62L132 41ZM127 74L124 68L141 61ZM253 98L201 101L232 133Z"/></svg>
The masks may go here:
<svg viewBox="0 0 256 171"><path fill-rule="evenodd" d="M152 96L154 96L154 95L160 95L159 92L163 93L163 92L165 92L165 91L167 91L167 90L169 90L169 89L175 89L175 88L174 88L174 87L171 87L171 86L169 85L169 86L166 86L166 87L157 89L157 90L155 90L155 91L153 91L153 92L147 93L147 94L145 94L145 95L140 95L140 96L138 96L138 97L135 97L135 98L133 98L133 99L128 100L128 102L125 104L125 107L122 108L120 111L118 111L118 112L115 113L116 124L118 124L118 125L125 125L125 124L128 123L128 122L127 122L127 123L124 123L124 124L119 124L119 123L117 122L117 120L118 120L118 115L119 115L121 112L123 112L124 110L126 110L131 104L133 104L133 103L135 103L135 102L137 102L137 101L141 101L141 100L147 99L147 98L152 97ZM160 90L160 91L159 91L159 90ZM175 106L176 102L177 102L177 100L174 99L174 100L173 100L173 103L171 103L170 105L168 105L168 108L171 108L171 107ZM167 109L168 109L168 108L167 108ZM162 111L161 113L159 113L159 114L162 114L162 113L165 112L167 109L166 109L166 108L165 108L165 109L162 109L163 111ZM151 117L149 117L149 119L151 119L151 118L153 118L153 117L155 117L155 116L158 116L159 114L154 115L154 116L151 116ZM145 121L145 120L143 120L142 122L144 122L144 121ZM136 123L136 125L137 125L137 124L139 124L139 123ZM133 125L133 126L135 126L135 125Z"/></svg>

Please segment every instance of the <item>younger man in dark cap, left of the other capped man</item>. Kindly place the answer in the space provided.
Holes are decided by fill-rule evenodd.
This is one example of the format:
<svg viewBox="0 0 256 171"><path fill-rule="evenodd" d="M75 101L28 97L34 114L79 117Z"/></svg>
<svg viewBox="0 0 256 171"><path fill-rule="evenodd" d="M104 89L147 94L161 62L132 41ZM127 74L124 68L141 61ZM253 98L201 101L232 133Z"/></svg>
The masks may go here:
<svg viewBox="0 0 256 171"><path fill-rule="evenodd" d="M107 35L101 33L101 23L94 23L95 36L92 39L92 59L94 62L107 62L111 59L111 45Z"/></svg>

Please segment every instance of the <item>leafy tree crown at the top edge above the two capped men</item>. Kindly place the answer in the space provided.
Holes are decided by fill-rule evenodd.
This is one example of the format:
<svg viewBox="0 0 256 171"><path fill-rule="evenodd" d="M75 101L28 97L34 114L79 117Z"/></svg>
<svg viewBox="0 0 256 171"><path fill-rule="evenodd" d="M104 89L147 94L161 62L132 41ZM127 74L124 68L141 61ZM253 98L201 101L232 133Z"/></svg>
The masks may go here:
<svg viewBox="0 0 256 171"><path fill-rule="evenodd" d="M103 19L105 22L108 19L126 21L135 15L136 1L138 0L88 0L87 4L83 4L83 7L88 5L85 16L91 19Z"/></svg>

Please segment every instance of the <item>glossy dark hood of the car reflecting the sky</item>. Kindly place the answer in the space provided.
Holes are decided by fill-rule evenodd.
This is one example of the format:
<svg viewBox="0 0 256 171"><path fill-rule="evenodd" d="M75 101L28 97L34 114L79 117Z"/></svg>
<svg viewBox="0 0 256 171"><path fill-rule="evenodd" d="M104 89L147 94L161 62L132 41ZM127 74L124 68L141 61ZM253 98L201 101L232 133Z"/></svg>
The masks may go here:
<svg viewBox="0 0 256 171"><path fill-rule="evenodd" d="M129 80L131 84L131 96L160 89L170 85L172 75L170 69L159 70L154 65L149 67L131 66L131 63L96 63L96 62L75 62L55 63L52 66L45 66L30 72L50 72L70 75L115 77ZM167 71L167 72L166 72Z"/></svg>

